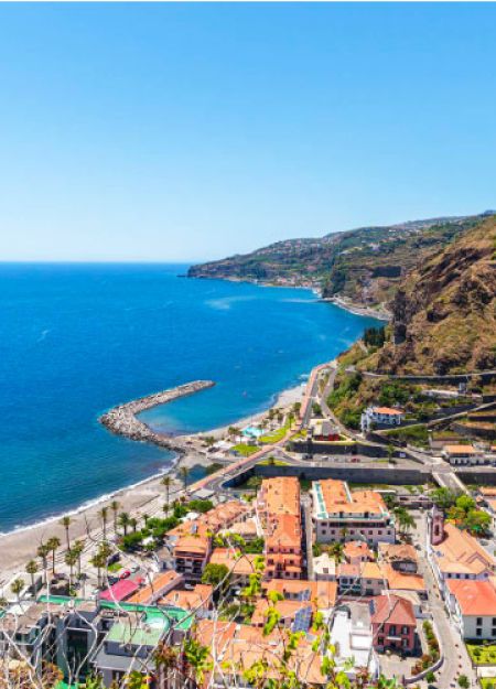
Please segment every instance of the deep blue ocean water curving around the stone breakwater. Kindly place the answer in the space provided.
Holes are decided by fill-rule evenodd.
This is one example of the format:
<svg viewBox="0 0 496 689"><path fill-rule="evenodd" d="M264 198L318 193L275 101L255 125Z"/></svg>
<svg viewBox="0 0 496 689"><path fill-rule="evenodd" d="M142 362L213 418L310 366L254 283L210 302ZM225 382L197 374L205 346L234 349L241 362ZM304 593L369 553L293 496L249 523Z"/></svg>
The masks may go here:
<svg viewBox="0 0 496 689"><path fill-rule="evenodd" d="M374 323L309 290L187 280L185 266L0 265L0 530L141 481L168 451L97 417L196 378L144 415L202 431L268 407Z"/></svg>

